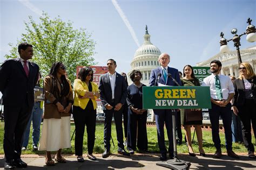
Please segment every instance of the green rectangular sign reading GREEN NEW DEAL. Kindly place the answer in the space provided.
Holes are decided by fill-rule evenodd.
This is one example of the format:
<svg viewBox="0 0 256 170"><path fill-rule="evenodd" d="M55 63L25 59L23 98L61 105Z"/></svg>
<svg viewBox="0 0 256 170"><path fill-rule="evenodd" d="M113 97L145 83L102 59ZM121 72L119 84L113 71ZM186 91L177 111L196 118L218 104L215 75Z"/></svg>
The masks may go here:
<svg viewBox="0 0 256 170"><path fill-rule="evenodd" d="M198 108L211 109L211 96L209 87L143 87L143 109Z"/></svg>

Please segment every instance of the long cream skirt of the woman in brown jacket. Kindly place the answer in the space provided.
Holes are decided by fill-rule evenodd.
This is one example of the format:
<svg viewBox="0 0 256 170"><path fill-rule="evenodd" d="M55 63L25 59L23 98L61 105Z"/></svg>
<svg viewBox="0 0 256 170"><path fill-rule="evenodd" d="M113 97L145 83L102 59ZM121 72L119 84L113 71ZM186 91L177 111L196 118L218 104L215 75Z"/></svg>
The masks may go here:
<svg viewBox="0 0 256 170"><path fill-rule="evenodd" d="M38 150L58 151L70 147L70 116L44 119Z"/></svg>

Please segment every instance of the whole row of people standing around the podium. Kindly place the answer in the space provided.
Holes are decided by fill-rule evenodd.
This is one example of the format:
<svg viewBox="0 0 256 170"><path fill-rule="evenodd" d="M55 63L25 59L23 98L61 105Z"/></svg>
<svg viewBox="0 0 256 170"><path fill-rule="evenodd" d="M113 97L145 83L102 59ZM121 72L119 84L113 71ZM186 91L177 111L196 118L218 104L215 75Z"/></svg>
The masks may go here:
<svg viewBox="0 0 256 170"><path fill-rule="evenodd" d="M66 67L62 62L52 64L50 73L44 78L44 114L42 136L39 140L42 115L41 102L34 101L33 88L41 79L39 67L29 61L33 55L32 45L22 43L18 46L20 58L6 60L0 67L0 90L3 94L4 104L4 153L5 168L27 167L21 160L21 151L28 145L30 124L33 121L33 149L46 151L45 164L55 165L55 162L65 163L61 151L71 147L70 143L70 115L73 114L75 122L75 154L77 161L83 162L83 137L86 125L87 132L87 157L97 160L92 154L95 145L96 131L96 99L100 98L105 115L104 121L104 147L103 158L110 155L110 139L112 117L116 124L118 153L130 156L134 151L147 151L147 110L143 109L143 87L140 70L132 70L130 86L127 83L125 73L116 72L117 63L113 59L107 60L106 74L100 76L99 84L93 82L93 70L90 67L80 69L78 79L73 83L66 78ZM199 80L194 76L193 68L186 65L183 69L183 77L177 69L169 67L170 55L162 53L158 59L160 67L151 70L149 86L165 84L167 86L200 86ZM256 127L256 77L249 63L241 63L239 79L233 83L230 77L221 75L221 62L213 60L210 63L212 75L206 77L203 86L210 87L212 108L209 109L212 125L212 139L216 152L215 158L221 157L219 138L219 117L223 119L226 139L227 155L239 158L232 151L232 111L241 120L242 138L248 150L248 157L255 158L252 144L251 124L253 130ZM170 76L171 74L172 79ZM176 81L174 81L176 80ZM18 86L16 85L18 82ZM38 85L39 86L39 85ZM73 94L74 91L74 94ZM233 105L231 100L233 99ZM160 160L167 159L165 146L164 125L169 139L169 158L173 159L173 131L172 114L177 110L153 109L157 125L157 138L160 150ZM201 130L202 112L200 109L180 109L180 123L184 125L185 136L188 145L188 153L196 156L191 143L191 125L196 128L198 150L205 157L203 149L203 135ZM123 136L123 118L125 127L125 143ZM40 117L40 116L39 116ZM178 118L179 119L179 118ZM35 126L34 126L35 124ZM38 129L39 127L39 129ZM35 133L35 134L34 134ZM24 134L24 135L23 135ZM182 136L181 136L182 140ZM39 142L39 146L37 147ZM127 151L125 145L127 143ZM51 152L57 151L55 160L52 160Z"/></svg>

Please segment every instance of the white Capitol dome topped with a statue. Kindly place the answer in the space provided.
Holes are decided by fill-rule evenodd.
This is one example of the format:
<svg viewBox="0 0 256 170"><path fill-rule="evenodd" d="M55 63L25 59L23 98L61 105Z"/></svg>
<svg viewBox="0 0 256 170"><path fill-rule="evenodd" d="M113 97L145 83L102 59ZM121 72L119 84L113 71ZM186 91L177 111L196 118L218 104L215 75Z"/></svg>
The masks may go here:
<svg viewBox="0 0 256 170"><path fill-rule="evenodd" d="M158 58L160 54L160 50L151 43L150 34L147 31L146 26L144 43L136 50L131 62L131 70L128 75L130 75L133 69L140 70L140 72L142 72L141 82L146 86L149 86L150 72L152 69L159 67ZM131 84L132 81L130 79L128 80L129 84Z"/></svg>

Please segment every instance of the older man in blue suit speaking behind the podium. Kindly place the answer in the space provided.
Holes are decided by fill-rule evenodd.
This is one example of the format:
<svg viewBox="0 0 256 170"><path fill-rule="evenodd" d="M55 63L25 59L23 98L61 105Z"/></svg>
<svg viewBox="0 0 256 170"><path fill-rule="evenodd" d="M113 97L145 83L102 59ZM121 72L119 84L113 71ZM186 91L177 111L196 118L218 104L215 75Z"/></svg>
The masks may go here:
<svg viewBox="0 0 256 170"><path fill-rule="evenodd" d="M179 72L176 68L168 67L170 62L170 55L167 53L162 53L158 59L160 67L151 70L150 74L150 86L154 86L156 83L157 86L159 83L165 84L167 86L177 86L176 83L170 79L167 75L170 73L176 81L181 84ZM160 75L159 81L158 75ZM161 153L160 160L166 160L166 147L164 142L164 123L167 130L167 136L169 139L169 157L173 158L173 136L172 136L172 110L171 109L154 109L154 115L156 117L157 124L157 139L158 146Z"/></svg>

